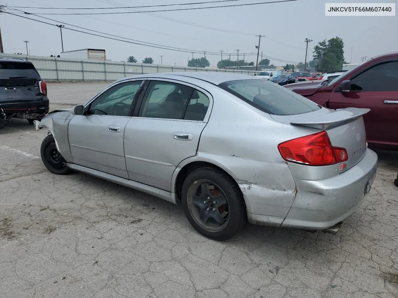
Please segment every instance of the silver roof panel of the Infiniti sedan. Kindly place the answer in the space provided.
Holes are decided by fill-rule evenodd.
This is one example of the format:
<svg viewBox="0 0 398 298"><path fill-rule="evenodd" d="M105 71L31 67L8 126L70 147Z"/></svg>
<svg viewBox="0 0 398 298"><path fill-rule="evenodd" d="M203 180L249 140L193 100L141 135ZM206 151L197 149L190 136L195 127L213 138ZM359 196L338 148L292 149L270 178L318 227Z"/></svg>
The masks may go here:
<svg viewBox="0 0 398 298"><path fill-rule="evenodd" d="M225 72L163 72L163 73L155 73L155 74L142 74L142 75L134 75L131 77L123 78L122 80L129 78L140 78L140 77L148 77L148 78L163 78L163 79L180 79L183 80L184 77L189 77L193 79L199 79L202 81L206 81L212 83L214 85L219 85L228 81L238 81L238 80L248 80L248 79L261 79L254 75L246 75L246 74L234 74L234 73L225 73ZM261 79L262 80L262 79Z"/></svg>

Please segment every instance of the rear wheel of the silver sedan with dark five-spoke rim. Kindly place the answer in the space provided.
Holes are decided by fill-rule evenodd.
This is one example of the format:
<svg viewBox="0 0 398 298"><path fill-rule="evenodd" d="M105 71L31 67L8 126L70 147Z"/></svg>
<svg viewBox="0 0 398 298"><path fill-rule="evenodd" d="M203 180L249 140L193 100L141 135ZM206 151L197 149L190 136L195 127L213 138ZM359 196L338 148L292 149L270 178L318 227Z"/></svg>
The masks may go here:
<svg viewBox="0 0 398 298"><path fill-rule="evenodd" d="M181 190L185 215L203 236L226 240L246 223L246 205L236 182L224 171L203 167L191 172Z"/></svg>

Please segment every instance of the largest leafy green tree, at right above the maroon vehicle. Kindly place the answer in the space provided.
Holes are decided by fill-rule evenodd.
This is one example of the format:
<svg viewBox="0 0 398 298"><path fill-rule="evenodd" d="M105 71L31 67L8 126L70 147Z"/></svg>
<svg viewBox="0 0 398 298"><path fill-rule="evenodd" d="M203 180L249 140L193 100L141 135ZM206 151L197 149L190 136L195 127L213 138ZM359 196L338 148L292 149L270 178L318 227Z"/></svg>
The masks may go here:
<svg viewBox="0 0 398 298"><path fill-rule="evenodd" d="M341 70L344 64L344 42L340 37L333 37L326 41L320 41L314 46L312 52L314 60L318 63L315 68L324 69L326 72Z"/></svg>

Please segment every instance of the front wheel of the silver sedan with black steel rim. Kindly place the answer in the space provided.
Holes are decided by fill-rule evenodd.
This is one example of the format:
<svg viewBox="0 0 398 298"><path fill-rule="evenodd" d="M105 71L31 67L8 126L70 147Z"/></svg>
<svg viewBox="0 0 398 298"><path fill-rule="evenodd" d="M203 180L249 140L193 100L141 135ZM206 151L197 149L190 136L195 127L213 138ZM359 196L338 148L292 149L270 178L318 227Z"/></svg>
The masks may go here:
<svg viewBox="0 0 398 298"><path fill-rule="evenodd" d="M72 172L72 170L64 164L66 161L58 152L53 135L47 135L47 137L43 139L43 142L41 142L40 155L43 164L51 173L67 175Z"/></svg>

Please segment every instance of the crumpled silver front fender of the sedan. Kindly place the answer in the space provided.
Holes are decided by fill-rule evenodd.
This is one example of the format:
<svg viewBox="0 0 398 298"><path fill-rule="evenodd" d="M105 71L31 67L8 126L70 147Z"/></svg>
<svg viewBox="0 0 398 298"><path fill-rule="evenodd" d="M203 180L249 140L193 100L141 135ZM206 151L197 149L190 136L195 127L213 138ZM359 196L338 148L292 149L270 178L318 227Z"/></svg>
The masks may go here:
<svg viewBox="0 0 398 298"><path fill-rule="evenodd" d="M35 120L35 130L47 128L53 135L55 145L66 162L72 163L72 154L68 142L68 124L74 117L70 110L55 110L47 114L41 121Z"/></svg>

